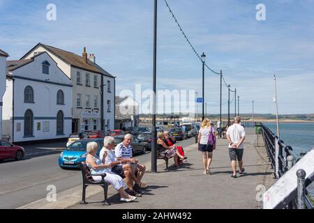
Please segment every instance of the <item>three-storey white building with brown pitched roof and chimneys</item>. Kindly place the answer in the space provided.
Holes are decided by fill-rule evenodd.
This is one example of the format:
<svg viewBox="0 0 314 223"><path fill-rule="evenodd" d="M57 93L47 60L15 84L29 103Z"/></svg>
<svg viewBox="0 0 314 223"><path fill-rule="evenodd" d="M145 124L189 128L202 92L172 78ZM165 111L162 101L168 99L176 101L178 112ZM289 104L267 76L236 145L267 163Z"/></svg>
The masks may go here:
<svg viewBox="0 0 314 223"><path fill-rule="evenodd" d="M72 132L109 130L114 127L115 77L96 64L94 54L82 56L38 43L22 59L47 52L72 80Z"/></svg>

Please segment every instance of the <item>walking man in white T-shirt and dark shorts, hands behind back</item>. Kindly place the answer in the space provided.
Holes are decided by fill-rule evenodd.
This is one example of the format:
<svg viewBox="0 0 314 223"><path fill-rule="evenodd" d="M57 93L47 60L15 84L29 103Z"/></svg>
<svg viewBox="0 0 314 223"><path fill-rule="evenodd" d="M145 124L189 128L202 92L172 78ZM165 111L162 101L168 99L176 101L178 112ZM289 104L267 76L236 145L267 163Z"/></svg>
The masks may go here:
<svg viewBox="0 0 314 223"><path fill-rule="evenodd" d="M231 160L231 167L233 174L231 177L237 178L237 161L239 162L239 174L244 174L243 167L243 153L244 153L244 139L246 139L246 132L244 127L240 125L241 118L239 116L234 118L234 124L227 129L227 141L229 142L229 155Z"/></svg>

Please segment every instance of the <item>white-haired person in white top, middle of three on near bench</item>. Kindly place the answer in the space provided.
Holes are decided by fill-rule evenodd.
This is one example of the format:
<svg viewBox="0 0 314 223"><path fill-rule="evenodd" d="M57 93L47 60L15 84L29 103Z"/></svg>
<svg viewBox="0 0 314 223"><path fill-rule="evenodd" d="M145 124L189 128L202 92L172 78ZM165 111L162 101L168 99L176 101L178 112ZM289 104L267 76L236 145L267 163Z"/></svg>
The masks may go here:
<svg viewBox="0 0 314 223"><path fill-rule="evenodd" d="M140 181L135 177L132 167L130 164L127 164L126 160L118 161L114 151L112 151L112 148L114 148L114 137L105 137L103 142L104 146L99 153L100 160L103 164L111 165L111 171L114 174L121 176L121 178L126 178L126 185L128 185L130 195L141 197L142 195L135 192L133 189L133 180L137 184L139 184Z"/></svg>

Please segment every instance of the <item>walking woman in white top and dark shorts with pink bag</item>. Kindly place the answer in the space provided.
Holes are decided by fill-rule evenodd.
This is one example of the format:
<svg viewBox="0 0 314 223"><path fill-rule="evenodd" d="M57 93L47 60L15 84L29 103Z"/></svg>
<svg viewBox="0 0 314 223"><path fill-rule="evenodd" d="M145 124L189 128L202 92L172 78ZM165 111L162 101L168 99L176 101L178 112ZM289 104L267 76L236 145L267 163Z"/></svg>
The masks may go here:
<svg viewBox="0 0 314 223"><path fill-rule="evenodd" d="M214 134L214 136L212 134ZM209 137L214 137L214 144L209 143ZM214 127L208 118L205 118L201 124L200 133L198 134L198 149L202 152L204 174L211 174L211 160L213 159L213 151L216 148L216 134Z"/></svg>

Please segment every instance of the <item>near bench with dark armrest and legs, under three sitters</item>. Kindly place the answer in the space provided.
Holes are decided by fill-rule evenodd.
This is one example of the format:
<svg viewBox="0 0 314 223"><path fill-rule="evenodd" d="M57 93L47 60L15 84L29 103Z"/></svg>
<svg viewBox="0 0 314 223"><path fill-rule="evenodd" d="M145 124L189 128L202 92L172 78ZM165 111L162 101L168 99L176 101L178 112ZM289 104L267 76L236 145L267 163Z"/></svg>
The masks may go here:
<svg viewBox="0 0 314 223"><path fill-rule="evenodd" d="M105 176L106 174L91 174L91 170L89 169L89 167L87 167L85 162L80 162L79 163L80 169L82 171L82 178L83 178L83 192L82 192L82 201L80 202L80 204L87 204L87 202L85 201L85 197L86 197L86 188L89 185L100 185L101 187L103 187L103 192L104 192L104 196L105 196L105 200L103 201L103 205L104 206L110 206L110 203L107 201L107 197L108 197L108 184L105 181ZM93 179L93 176L101 176L101 181L100 182L96 182Z"/></svg>

